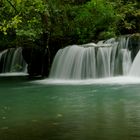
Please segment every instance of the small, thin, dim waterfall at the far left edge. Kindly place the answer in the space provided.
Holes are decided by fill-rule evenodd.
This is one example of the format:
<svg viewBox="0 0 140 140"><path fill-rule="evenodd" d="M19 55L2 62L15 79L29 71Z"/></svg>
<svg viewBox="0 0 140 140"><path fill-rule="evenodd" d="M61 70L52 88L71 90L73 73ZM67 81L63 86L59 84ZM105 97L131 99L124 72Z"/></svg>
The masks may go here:
<svg viewBox="0 0 140 140"><path fill-rule="evenodd" d="M0 53L1 73L27 72L27 64L22 57L22 48L10 48Z"/></svg>

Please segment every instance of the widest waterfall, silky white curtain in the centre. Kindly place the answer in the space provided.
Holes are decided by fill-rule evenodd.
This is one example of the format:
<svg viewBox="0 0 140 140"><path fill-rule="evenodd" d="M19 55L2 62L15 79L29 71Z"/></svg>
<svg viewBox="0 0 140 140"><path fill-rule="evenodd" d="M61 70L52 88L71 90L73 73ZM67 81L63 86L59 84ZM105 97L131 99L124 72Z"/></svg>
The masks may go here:
<svg viewBox="0 0 140 140"><path fill-rule="evenodd" d="M131 68L129 38L112 38L97 44L67 46L53 61L51 79L95 79L128 75Z"/></svg>

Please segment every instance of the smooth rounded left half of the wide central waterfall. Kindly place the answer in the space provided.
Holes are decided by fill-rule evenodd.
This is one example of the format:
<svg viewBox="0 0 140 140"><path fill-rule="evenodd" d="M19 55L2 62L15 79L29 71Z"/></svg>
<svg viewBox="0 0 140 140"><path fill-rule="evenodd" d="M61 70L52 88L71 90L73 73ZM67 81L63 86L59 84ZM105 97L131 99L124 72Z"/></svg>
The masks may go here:
<svg viewBox="0 0 140 140"><path fill-rule="evenodd" d="M96 77L95 48L77 45L59 50L52 65L50 77L59 79L84 79Z"/></svg>

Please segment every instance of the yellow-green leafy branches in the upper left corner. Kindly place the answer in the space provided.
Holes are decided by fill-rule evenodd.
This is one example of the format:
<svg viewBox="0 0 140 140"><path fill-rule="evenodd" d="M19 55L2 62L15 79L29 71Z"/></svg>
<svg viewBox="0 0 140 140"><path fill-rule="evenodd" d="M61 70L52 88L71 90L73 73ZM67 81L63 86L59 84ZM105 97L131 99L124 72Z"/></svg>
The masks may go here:
<svg viewBox="0 0 140 140"><path fill-rule="evenodd" d="M17 36L37 39L44 30L42 15L47 5L42 0L3 0L0 31L7 35L14 29Z"/></svg>

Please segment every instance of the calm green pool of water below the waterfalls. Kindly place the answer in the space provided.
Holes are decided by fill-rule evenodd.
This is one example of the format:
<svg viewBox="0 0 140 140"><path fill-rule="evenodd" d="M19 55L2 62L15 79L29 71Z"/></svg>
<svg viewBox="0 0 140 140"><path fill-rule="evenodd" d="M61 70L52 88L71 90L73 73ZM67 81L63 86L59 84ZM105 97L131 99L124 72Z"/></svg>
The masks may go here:
<svg viewBox="0 0 140 140"><path fill-rule="evenodd" d="M42 85L0 77L0 140L139 140L140 85Z"/></svg>

